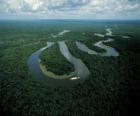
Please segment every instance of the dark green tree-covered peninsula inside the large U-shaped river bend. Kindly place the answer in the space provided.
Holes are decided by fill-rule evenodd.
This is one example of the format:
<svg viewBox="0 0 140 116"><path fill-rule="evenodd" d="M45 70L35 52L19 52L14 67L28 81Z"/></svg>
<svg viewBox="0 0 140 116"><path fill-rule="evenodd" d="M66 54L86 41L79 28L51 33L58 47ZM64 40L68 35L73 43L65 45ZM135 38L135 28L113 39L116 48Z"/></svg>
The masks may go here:
<svg viewBox="0 0 140 116"><path fill-rule="evenodd" d="M41 63L46 66L46 69L55 74L64 75L74 72L73 65L61 54L58 44L43 51L40 59Z"/></svg>

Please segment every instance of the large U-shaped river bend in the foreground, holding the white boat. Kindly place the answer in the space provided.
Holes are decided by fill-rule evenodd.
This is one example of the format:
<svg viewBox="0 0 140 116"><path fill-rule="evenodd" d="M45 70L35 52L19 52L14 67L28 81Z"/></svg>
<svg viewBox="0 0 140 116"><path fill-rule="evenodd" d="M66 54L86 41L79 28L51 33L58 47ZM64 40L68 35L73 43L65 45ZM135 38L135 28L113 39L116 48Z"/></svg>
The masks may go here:
<svg viewBox="0 0 140 116"><path fill-rule="evenodd" d="M62 55L71 63L74 65L76 76L80 79L76 79L74 81L70 80L70 78L64 78L64 79L54 79L52 77L47 76L40 68L39 63L39 56L41 52L46 50L47 48L50 48L52 45L54 45L53 42L47 42L47 46L41 48L40 50L34 52L28 60L28 67L29 72L34 75L36 78L42 78L47 80L47 83L53 86L73 86L79 82L83 82L83 80L89 76L89 70L86 67L86 65L82 62L82 60L74 57L68 50L67 45L64 41L58 42L60 52ZM73 78L73 77L71 77Z"/></svg>

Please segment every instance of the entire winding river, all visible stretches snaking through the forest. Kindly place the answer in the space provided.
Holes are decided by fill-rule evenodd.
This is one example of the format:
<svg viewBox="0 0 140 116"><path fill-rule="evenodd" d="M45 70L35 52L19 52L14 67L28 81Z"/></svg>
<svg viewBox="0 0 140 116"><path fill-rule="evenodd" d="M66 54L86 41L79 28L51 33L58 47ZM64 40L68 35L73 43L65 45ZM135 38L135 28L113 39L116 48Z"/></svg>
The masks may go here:
<svg viewBox="0 0 140 116"><path fill-rule="evenodd" d="M95 34L95 36L100 36L100 37L105 37L105 36L112 36L112 31L111 29L107 28L106 29L107 33L105 35L103 34ZM68 30L64 30L62 32L60 32L57 36L62 36L65 33L68 33ZM91 50L90 48L88 48L85 44L76 41L76 46L79 50L86 52L90 55L99 55L99 56L106 56L106 57L117 57L119 56L119 53L115 50L115 48L112 48L110 46L105 45L104 43L107 42L112 42L114 41L111 38L108 38L107 40L101 40L97 43L94 44L94 46L99 47L101 49L104 49L105 52L103 53L98 53L94 50ZM54 74L53 72L46 72L43 70L43 68L40 65L40 59L39 56L40 54L50 48L51 46L53 46L54 44L58 44L59 45L59 50L61 52L61 54L74 66L74 73L72 72L70 76L68 75L62 75L61 76L57 76L56 74ZM39 50L37 50L36 52L34 52L28 60L28 67L29 67L29 72L34 75L34 77L36 78L42 78L44 80L47 80L47 83L50 84L51 86L73 86L79 82L83 82L84 79L86 79L89 74L90 71L87 68L87 66L83 63L83 61L79 58L74 57L65 41L58 41L58 42L47 42L47 45ZM73 75L74 74L74 75ZM54 77L53 77L53 76ZM59 78L60 77L60 78ZM78 78L78 79L74 79L74 81L72 80L72 78Z"/></svg>

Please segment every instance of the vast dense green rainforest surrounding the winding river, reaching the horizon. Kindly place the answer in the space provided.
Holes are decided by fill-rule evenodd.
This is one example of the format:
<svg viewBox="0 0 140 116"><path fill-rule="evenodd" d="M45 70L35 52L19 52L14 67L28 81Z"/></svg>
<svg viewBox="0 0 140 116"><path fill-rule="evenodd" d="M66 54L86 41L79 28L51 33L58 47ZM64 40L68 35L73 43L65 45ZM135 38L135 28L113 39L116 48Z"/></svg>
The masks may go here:
<svg viewBox="0 0 140 116"><path fill-rule="evenodd" d="M97 39L93 33L105 33L105 25L107 24L61 21L0 22L1 115L135 115L138 111L136 104L140 101L140 25L108 24L118 36L114 37L114 42L106 44L119 51L118 58L88 55L79 51L75 45L75 40L79 40L94 49L92 42ZM71 33L60 38L49 38L51 33L57 34L63 29L69 29ZM82 35L83 32L86 35ZM121 34L132 38L123 39L119 36ZM29 56L44 47L46 41L58 40L70 40L66 43L71 53L88 66L91 75L84 83L70 88L57 88L48 85L47 81L35 79L28 72ZM45 60L60 65L57 70L61 66L71 67L57 51L57 47L43 53L47 54ZM59 64L57 57L64 64ZM52 66L58 67L56 65Z"/></svg>

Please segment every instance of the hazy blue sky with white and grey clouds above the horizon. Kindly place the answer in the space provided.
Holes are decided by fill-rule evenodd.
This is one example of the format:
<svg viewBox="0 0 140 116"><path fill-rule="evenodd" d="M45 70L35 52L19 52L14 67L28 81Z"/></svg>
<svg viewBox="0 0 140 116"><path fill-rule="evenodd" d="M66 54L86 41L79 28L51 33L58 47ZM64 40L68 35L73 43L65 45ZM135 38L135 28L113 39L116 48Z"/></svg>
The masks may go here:
<svg viewBox="0 0 140 116"><path fill-rule="evenodd" d="M0 0L0 19L140 19L140 0Z"/></svg>

